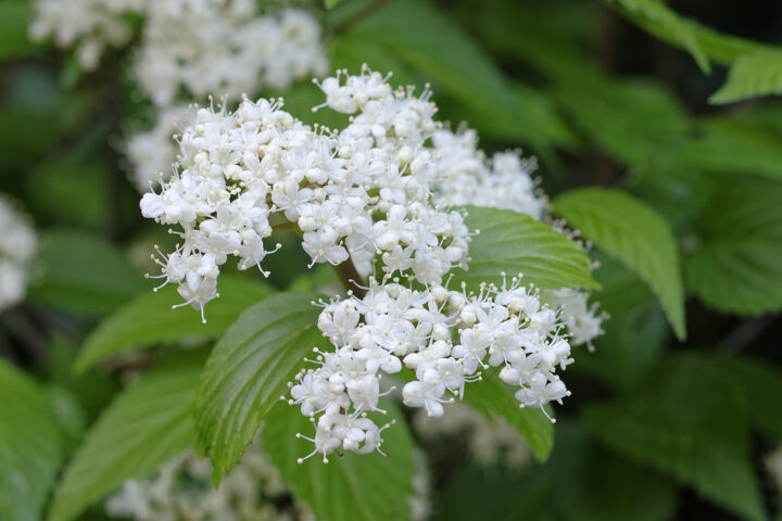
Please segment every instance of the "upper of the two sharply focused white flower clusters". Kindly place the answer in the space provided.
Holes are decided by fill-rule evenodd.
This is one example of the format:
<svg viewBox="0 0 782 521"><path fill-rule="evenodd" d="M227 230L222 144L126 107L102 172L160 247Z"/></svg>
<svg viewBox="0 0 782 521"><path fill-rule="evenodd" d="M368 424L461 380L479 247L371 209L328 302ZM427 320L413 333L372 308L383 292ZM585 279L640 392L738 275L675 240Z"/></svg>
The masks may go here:
<svg viewBox="0 0 782 521"><path fill-rule="evenodd" d="M273 215L298 225L313 264L377 254L386 274L427 284L464 263L463 215L429 198L438 175L425 145L437 128L429 92L393 91L367 69L320 87L329 106L355 113L341 132L303 125L279 101L202 109L180 138L181 171L142 198L146 217L181 227L184 242L164 256L160 277L202 313L228 256L261 268L276 251L263 244Z"/></svg>

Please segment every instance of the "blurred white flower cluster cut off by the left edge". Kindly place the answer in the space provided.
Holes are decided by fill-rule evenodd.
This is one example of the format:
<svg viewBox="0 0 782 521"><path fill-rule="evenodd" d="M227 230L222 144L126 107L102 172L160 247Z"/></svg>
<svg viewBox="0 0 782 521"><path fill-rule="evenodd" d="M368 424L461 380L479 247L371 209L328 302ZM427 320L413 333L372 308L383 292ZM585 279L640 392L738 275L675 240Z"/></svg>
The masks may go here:
<svg viewBox="0 0 782 521"><path fill-rule="evenodd" d="M36 234L12 203L0 198L0 312L20 302L27 289Z"/></svg>

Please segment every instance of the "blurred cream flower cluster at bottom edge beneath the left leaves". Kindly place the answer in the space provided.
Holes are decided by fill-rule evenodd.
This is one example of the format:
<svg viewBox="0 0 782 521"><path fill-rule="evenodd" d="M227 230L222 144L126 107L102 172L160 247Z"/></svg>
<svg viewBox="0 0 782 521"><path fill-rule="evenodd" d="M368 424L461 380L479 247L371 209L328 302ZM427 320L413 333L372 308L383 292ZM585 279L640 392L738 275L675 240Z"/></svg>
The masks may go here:
<svg viewBox="0 0 782 521"><path fill-rule="evenodd" d="M304 504L287 501L290 491L258 442L217 488L211 475L209 460L188 450L152 478L126 481L105 508L112 517L135 521L315 521Z"/></svg>

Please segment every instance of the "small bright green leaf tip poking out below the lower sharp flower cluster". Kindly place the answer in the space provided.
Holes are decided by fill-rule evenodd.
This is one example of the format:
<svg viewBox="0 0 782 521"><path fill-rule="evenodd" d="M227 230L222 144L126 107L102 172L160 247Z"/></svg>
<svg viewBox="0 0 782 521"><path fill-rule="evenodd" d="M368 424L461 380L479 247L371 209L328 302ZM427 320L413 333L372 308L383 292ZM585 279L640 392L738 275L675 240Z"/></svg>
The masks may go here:
<svg viewBox="0 0 782 521"><path fill-rule="evenodd" d="M545 461L554 447L554 425L542 410L520 408L514 389L496 374L487 374L480 382L465 390L464 402L491 419L494 415L505 418L524 434L532 454Z"/></svg>

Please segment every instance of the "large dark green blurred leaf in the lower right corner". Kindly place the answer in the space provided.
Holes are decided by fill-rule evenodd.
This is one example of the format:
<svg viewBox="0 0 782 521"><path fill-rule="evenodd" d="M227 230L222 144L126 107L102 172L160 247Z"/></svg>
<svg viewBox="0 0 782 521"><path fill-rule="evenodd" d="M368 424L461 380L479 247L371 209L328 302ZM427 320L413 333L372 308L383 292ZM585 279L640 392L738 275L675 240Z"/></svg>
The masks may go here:
<svg viewBox="0 0 782 521"><path fill-rule="evenodd" d="M670 357L629 398L588 406L583 419L609 447L745 519L764 520L741 390L747 382L708 360Z"/></svg>

